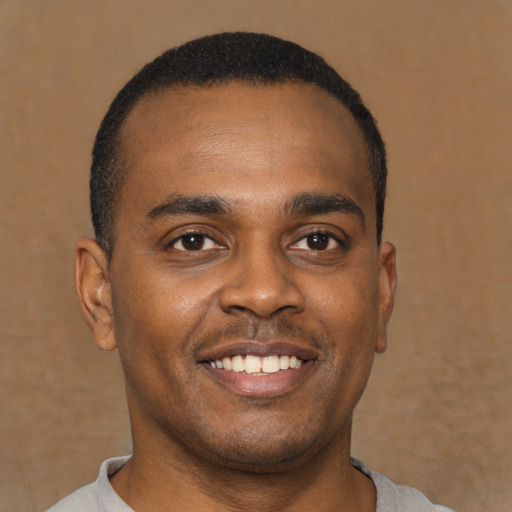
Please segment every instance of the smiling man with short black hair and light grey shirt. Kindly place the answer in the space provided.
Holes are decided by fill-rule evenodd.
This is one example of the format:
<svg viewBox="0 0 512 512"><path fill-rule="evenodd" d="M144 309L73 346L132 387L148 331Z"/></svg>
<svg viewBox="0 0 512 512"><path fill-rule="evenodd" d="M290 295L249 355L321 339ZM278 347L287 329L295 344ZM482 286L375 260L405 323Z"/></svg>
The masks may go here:
<svg viewBox="0 0 512 512"><path fill-rule="evenodd" d="M350 458L396 286L385 182L359 95L297 45L220 34L141 70L99 130L76 248L133 455L50 510L447 510Z"/></svg>

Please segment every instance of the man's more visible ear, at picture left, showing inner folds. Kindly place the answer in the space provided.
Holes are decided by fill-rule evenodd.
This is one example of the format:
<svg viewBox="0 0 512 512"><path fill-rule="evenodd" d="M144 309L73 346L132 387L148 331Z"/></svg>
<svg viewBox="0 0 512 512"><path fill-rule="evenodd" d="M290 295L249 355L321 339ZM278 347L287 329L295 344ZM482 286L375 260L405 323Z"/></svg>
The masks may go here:
<svg viewBox="0 0 512 512"><path fill-rule="evenodd" d="M116 348L108 260L99 244L81 238L75 247L75 285L82 315L102 350Z"/></svg>

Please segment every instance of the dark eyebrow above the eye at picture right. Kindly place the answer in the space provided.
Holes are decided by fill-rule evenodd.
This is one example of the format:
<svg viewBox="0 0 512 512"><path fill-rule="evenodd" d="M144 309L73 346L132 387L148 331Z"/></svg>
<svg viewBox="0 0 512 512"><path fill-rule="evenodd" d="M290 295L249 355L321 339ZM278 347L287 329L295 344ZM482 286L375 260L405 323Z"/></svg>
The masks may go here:
<svg viewBox="0 0 512 512"><path fill-rule="evenodd" d="M361 208L342 194L301 194L287 205L288 215L323 215L328 213L349 213L360 217L364 225Z"/></svg>

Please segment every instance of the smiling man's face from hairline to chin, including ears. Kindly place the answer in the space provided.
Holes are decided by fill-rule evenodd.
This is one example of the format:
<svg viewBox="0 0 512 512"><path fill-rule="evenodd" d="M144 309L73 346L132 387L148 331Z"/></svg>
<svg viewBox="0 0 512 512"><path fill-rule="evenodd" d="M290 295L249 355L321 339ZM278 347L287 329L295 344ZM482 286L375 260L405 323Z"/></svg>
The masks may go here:
<svg viewBox="0 0 512 512"><path fill-rule="evenodd" d="M121 135L90 323L135 447L260 470L348 444L395 283L351 115L314 86L230 83L145 98Z"/></svg>

